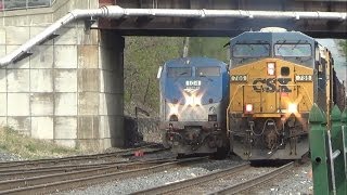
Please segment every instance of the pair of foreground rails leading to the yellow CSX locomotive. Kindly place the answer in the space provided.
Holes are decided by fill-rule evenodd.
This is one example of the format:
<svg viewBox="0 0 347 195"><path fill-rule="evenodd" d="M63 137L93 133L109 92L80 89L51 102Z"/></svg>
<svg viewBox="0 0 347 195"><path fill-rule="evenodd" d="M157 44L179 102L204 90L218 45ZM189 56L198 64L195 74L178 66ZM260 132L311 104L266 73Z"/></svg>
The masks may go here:
<svg viewBox="0 0 347 195"><path fill-rule="evenodd" d="M256 185L259 185L264 182L267 182L268 180L273 179L277 176L279 176L280 173L288 171L293 167L294 167L294 162L291 162L291 164L287 164L287 165L282 166L280 168L277 168L273 171L270 171L270 172L261 174L257 178L254 178L252 180L248 180L248 181L245 181L242 183L237 183L237 184L234 184L231 186L227 186L220 191L216 191L210 194L236 194L242 191L246 191L250 187L254 187ZM207 182L216 181L218 179L230 178L230 177L235 176L236 173L245 171L249 168L250 168L250 166L248 164L241 165L241 166L232 167L229 169L223 169L223 170L220 170L217 172L213 172L209 174L196 177L193 179L188 179L188 180L183 180L183 181L179 181L179 182L175 182L175 183L170 183L170 184L166 184L166 185L162 185L162 186L157 186L157 187L153 187L153 188L138 191L132 194L133 195L137 195L137 194L187 194L187 193L189 194L190 191L188 191L187 188L193 188L200 184L206 184ZM184 193L180 193L180 191L182 192L182 190L184 190Z"/></svg>

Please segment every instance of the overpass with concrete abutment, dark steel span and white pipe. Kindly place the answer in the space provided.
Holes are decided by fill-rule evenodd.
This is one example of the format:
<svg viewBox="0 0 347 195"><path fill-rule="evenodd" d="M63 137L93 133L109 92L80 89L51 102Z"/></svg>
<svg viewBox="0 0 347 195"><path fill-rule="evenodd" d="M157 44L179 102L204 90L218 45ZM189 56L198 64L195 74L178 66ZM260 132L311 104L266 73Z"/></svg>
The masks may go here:
<svg viewBox="0 0 347 195"><path fill-rule="evenodd" d="M124 145L127 35L234 36L284 24L314 37L346 38L346 1L257 2L55 0L49 8L4 10L0 123L68 146Z"/></svg>

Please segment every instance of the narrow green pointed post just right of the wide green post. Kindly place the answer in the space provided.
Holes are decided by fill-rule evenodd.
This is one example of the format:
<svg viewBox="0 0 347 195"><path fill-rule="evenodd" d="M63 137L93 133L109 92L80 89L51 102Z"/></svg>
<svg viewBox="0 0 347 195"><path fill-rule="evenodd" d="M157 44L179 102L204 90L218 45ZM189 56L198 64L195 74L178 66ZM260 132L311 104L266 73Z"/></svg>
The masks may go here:
<svg viewBox="0 0 347 195"><path fill-rule="evenodd" d="M331 141L332 141L332 152L333 154L339 155L336 156L333 160L334 165L334 173L333 177L335 178L335 190L337 195L346 195L346 186L345 186L345 160L344 160L344 140L343 140L343 131L340 125L340 110L337 105L335 105L332 109L331 114Z"/></svg>

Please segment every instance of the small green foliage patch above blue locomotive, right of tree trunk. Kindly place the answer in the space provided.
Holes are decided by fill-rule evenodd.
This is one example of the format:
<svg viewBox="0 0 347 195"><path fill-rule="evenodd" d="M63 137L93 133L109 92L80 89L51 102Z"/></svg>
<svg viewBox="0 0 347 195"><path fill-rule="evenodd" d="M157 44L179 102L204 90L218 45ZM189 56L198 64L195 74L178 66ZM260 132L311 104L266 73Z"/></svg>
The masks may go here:
<svg viewBox="0 0 347 195"><path fill-rule="evenodd" d="M229 61L229 38L192 37L190 38L190 56L214 57L223 62Z"/></svg>

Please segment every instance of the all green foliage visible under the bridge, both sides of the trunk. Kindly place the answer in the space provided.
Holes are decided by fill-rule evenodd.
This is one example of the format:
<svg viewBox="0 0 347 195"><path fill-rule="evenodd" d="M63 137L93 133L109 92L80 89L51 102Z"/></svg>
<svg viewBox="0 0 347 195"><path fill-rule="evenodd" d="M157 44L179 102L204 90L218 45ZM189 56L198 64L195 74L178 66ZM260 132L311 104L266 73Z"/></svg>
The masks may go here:
<svg viewBox="0 0 347 195"><path fill-rule="evenodd" d="M166 61L181 57L179 37L127 37L125 49L125 114L140 106L155 116L159 108L157 69ZM229 38L190 38L189 56L207 56L228 62Z"/></svg>

